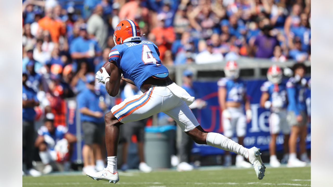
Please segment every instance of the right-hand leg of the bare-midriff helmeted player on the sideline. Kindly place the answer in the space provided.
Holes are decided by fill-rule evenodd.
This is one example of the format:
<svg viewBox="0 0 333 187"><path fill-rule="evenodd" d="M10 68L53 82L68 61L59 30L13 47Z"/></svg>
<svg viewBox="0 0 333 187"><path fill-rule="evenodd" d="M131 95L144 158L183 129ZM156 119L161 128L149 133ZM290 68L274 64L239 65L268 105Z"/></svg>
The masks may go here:
<svg viewBox="0 0 333 187"><path fill-rule="evenodd" d="M244 145L244 137L246 135L246 116L242 110L237 112L237 122L236 122L236 135L238 138L238 144ZM236 166L250 168L252 165L244 160L241 155L236 156Z"/></svg>

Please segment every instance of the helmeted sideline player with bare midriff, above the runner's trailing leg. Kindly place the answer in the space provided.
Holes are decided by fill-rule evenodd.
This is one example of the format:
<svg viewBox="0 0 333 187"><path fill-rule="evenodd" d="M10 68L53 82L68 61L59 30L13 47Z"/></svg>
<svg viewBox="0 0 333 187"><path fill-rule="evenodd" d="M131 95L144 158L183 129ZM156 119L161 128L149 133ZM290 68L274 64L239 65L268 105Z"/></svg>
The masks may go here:
<svg viewBox="0 0 333 187"><path fill-rule="evenodd" d="M235 61L229 61L224 68L225 78L221 78L217 82L218 86L218 102L222 110L222 121L224 135L232 138L236 133L238 143L243 144L246 134L246 123L251 121L252 112L250 109L250 101L246 99L246 86L240 80L239 69ZM244 104L246 115L244 115ZM231 165L230 152L226 151L224 156L224 166ZM241 155L236 156L237 167L251 167L251 164L244 160Z"/></svg>

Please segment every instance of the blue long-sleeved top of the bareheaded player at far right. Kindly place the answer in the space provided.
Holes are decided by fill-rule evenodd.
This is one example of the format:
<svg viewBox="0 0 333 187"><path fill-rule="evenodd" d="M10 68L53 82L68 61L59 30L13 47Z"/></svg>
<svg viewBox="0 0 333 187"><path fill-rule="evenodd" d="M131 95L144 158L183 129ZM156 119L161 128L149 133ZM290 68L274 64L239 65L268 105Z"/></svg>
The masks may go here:
<svg viewBox="0 0 333 187"><path fill-rule="evenodd" d="M288 111L294 111L296 115L299 115L301 111L306 112L306 87L295 82L295 79L291 77L287 84L288 95Z"/></svg>

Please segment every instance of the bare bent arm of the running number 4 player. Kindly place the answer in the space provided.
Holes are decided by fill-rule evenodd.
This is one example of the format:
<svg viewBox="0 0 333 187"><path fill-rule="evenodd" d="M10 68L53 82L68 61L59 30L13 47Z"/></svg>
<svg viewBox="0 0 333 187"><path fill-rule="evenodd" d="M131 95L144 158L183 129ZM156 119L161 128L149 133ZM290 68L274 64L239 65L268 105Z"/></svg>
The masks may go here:
<svg viewBox="0 0 333 187"><path fill-rule="evenodd" d="M116 62L111 61L110 63L110 80L106 82L105 87L109 95L115 97L119 92L120 80L121 80L121 71L115 65Z"/></svg>

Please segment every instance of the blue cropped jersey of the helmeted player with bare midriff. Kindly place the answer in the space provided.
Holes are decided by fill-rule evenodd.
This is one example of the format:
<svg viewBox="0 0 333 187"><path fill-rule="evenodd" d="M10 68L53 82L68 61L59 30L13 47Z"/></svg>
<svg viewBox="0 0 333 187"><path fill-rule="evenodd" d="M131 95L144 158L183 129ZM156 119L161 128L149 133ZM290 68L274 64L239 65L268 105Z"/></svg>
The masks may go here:
<svg viewBox="0 0 333 187"><path fill-rule="evenodd" d="M218 87L223 87L227 90L226 101L243 102L244 96L246 94L245 83L237 79L236 81L230 80L228 78L221 78L217 82Z"/></svg>

